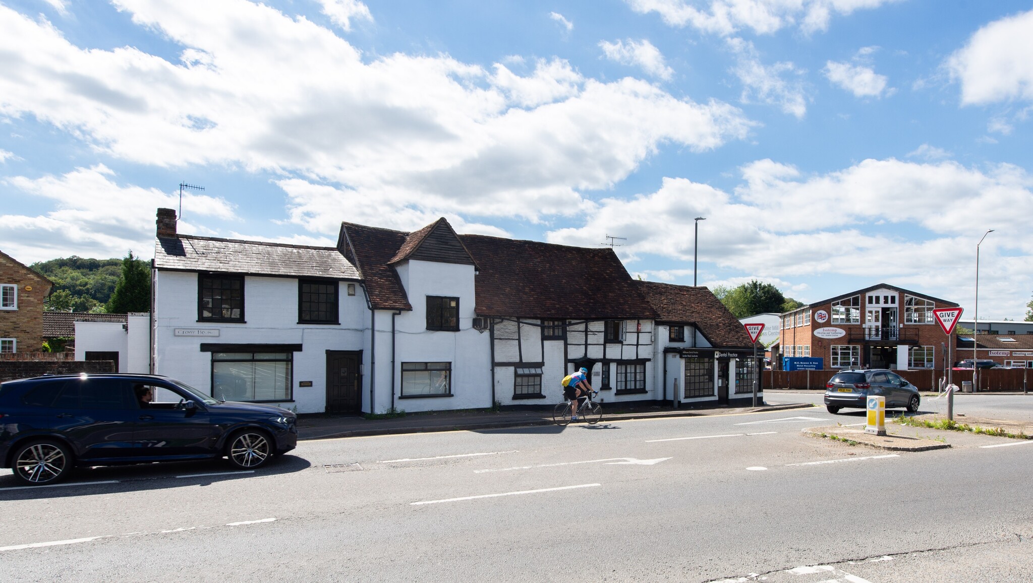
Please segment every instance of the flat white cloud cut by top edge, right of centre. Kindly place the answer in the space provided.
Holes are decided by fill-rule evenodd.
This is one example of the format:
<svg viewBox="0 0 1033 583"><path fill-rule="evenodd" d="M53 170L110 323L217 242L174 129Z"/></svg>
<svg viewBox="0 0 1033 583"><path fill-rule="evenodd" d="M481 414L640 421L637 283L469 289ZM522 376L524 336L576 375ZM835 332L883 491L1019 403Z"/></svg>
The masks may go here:
<svg viewBox="0 0 1033 583"><path fill-rule="evenodd" d="M744 28L756 34L771 34L788 26L799 26L804 32L824 31L834 13L847 15L854 10L877 8L894 1L625 0L636 12L657 12L669 26L691 26L721 35L734 34Z"/></svg>

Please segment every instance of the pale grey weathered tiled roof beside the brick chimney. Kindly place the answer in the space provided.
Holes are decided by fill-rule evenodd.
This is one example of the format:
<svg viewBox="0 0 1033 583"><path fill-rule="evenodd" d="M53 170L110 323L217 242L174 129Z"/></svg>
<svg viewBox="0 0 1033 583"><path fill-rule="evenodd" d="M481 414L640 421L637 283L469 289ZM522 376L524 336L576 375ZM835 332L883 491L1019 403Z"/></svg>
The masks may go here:
<svg viewBox="0 0 1033 583"><path fill-rule="evenodd" d="M180 235L158 237L158 269L358 280L358 270L333 247Z"/></svg>

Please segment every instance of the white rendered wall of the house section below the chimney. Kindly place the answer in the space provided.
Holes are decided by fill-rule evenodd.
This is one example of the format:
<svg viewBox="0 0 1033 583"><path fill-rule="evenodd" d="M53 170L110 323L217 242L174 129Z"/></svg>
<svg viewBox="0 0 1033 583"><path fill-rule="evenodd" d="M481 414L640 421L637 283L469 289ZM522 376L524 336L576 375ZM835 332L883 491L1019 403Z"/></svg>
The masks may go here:
<svg viewBox="0 0 1033 583"><path fill-rule="evenodd" d="M339 287L340 324L298 323L298 280L248 276L244 282L244 323L197 321L197 273L158 271L155 279L155 371L205 393L212 391L212 354L204 344L300 344L293 355L293 400L280 403L299 413L322 413L326 401L326 351L358 351L366 345L369 310L359 291ZM175 330L218 330L218 336L177 336ZM364 352L364 357L366 352ZM366 368L369 369L368 366ZM367 373L368 374L368 373ZM300 387L311 381L311 387ZM367 383L364 379L364 384ZM368 385L367 385L368 388ZM364 403L368 398L364 391Z"/></svg>

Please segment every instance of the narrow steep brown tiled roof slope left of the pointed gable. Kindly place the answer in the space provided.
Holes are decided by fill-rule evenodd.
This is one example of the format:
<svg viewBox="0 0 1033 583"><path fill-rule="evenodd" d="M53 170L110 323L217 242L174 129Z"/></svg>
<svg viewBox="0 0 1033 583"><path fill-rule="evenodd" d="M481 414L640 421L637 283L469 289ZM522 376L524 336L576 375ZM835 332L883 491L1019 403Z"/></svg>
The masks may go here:
<svg viewBox="0 0 1033 583"><path fill-rule="evenodd" d="M433 225L431 225L433 226ZM366 282L370 302L376 310L412 310L402 287L402 280L387 263L405 244L408 233L356 225L341 224L338 248L354 258L355 267Z"/></svg>

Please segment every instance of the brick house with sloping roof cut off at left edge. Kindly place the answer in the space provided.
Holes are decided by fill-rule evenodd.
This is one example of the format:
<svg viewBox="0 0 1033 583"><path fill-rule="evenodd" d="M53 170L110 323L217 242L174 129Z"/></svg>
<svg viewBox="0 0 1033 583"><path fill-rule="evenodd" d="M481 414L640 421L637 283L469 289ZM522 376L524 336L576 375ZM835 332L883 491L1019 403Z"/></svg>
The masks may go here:
<svg viewBox="0 0 1033 583"><path fill-rule="evenodd" d="M53 283L0 252L0 353L38 352L43 300Z"/></svg>

